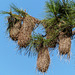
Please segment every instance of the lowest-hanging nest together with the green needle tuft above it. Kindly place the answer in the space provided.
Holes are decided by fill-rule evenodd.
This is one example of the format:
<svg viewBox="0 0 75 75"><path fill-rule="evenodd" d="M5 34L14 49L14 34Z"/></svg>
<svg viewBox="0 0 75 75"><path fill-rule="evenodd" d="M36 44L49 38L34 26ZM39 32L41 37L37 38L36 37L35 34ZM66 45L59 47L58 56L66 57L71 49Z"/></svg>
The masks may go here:
<svg viewBox="0 0 75 75"><path fill-rule="evenodd" d="M50 64L50 56L48 47L45 45L46 39L42 35L34 35L32 37L31 45L36 49L38 53L37 58L37 69L40 72L46 72Z"/></svg>

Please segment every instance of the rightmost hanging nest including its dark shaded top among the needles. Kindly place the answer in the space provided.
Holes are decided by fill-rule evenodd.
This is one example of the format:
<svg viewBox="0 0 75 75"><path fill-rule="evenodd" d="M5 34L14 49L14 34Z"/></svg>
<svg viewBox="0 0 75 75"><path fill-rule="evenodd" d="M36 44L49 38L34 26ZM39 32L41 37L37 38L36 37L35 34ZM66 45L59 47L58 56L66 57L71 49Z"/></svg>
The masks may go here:
<svg viewBox="0 0 75 75"><path fill-rule="evenodd" d="M64 25L62 25L62 23ZM59 23L59 27L61 28L61 32L59 33L59 53L60 55L67 54L67 57L70 58L72 25L66 25L66 24L67 23L65 21Z"/></svg>

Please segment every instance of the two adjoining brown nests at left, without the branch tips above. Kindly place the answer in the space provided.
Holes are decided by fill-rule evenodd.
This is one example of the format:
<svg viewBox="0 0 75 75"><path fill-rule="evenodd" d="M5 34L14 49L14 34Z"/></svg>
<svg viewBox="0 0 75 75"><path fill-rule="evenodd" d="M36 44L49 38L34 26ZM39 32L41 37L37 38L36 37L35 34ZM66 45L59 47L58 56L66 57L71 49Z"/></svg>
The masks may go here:
<svg viewBox="0 0 75 75"><path fill-rule="evenodd" d="M17 20L16 17L12 18L11 16L9 18L9 27L7 29L9 29L10 38L12 38L14 41L18 41L18 45L20 47L28 46L31 39L31 32L34 29L35 24L38 24L39 21L29 15L26 15L23 19L20 20Z"/></svg>

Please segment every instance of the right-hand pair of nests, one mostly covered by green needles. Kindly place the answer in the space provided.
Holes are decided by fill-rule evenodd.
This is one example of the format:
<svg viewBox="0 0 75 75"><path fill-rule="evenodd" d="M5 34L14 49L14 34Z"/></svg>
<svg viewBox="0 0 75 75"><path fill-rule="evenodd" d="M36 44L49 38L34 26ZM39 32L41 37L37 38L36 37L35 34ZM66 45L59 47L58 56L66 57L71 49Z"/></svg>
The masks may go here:
<svg viewBox="0 0 75 75"><path fill-rule="evenodd" d="M59 44L60 55L68 54L70 57L72 25L66 25L66 21L63 20L58 22L43 20L42 24L46 29L47 46L54 48L56 44Z"/></svg>

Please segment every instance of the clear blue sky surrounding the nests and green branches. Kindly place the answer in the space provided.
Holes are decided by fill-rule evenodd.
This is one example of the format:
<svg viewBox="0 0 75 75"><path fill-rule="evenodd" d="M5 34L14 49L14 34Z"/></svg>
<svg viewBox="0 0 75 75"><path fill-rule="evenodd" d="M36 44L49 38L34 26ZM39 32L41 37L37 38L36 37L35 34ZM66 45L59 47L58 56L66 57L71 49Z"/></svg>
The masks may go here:
<svg viewBox="0 0 75 75"><path fill-rule="evenodd" d="M0 0L0 10L9 11L14 3L17 7L26 9L27 13L38 19L45 17L46 0ZM0 75L42 75L36 70L35 57L17 53L17 43L6 34L7 15L0 15ZM75 75L75 39L71 44L71 59L61 59L55 50L50 53L51 63L45 75ZM54 56L52 56L54 54Z"/></svg>

